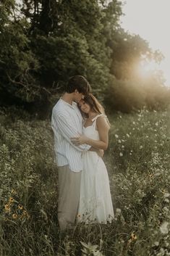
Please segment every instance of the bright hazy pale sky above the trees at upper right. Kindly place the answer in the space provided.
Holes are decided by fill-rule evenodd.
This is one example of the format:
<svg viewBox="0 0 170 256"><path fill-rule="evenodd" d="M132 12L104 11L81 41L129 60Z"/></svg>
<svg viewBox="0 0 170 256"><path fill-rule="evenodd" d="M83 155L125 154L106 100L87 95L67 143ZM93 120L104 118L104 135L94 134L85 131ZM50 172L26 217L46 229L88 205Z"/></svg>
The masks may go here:
<svg viewBox="0 0 170 256"><path fill-rule="evenodd" d="M170 0L126 0L123 12L122 27L139 34L150 48L163 53L165 59L158 69L163 70L166 84L170 85Z"/></svg>

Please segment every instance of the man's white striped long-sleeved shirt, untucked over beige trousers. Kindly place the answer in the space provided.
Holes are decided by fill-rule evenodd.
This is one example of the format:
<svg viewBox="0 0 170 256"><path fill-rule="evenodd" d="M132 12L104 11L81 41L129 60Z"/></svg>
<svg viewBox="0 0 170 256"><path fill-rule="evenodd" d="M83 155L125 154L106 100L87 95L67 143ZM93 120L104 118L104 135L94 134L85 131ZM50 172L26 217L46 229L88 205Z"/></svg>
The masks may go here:
<svg viewBox="0 0 170 256"><path fill-rule="evenodd" d="M52 110L51 127L54 131L55 162L58 166L69 165L74 172L82 170L82 151L90 146L75 146L70 138L82 133L82 115L75 102L69 104L59 99Z"/></svg>

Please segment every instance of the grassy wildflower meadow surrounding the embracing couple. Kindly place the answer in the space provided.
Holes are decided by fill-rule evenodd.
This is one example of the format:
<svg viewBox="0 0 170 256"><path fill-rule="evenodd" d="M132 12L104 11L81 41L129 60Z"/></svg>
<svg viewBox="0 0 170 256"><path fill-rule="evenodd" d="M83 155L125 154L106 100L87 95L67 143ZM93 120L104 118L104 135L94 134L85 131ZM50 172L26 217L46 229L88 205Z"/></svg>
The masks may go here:
<svg viewBox="0 0 170 256"><path fill-rule="evenodd" d="M170 111L109 120L115 220L60 234L50 120L0 110L0 256L170 255Z"/></svg>

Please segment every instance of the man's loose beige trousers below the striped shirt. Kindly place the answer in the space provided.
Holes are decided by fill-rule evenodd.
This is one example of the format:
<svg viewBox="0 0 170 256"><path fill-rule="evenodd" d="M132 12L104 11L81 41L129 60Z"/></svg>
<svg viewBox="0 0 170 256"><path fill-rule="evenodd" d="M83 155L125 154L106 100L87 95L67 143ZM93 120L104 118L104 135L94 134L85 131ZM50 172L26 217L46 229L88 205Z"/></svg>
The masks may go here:
<svg viewBox="0 0 170 256"><path fill-rule="evenodd" d="M59 167L58 220L61 231L75 225L79 198L81 172L69 170L69 166Z"/></svg>

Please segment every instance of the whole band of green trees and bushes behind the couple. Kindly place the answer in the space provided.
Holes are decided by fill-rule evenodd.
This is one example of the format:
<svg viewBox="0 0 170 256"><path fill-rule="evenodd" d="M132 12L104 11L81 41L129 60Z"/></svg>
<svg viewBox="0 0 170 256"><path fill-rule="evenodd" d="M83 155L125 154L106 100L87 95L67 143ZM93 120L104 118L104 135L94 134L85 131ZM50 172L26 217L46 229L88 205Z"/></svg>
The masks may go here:
<svg viewBox="0 0 170 256"><path fill-rule="evenodd" d="M161 73L137 74L141 60L163 57L121 28L122 1L4 0L0 7L2 106L46 117L72 75L85 75L111 111L169 102Z"/></svg>

